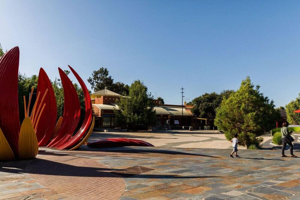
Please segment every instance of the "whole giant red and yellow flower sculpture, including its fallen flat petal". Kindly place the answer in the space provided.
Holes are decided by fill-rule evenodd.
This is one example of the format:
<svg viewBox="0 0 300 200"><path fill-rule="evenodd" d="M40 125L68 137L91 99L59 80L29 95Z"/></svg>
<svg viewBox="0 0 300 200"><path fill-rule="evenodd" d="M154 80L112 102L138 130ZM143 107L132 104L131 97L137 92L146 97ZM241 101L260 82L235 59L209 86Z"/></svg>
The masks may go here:
<svg viewBox="0 0 300 200"><path fill-rule="evenodd" d="M64 89L64 113L56 123L55 94L46 72L41 68L37 99L30 116L33 88L28 106L24 96L26 123L22 124L19 140L21 128L18 110L19 47L10 49L0 58L0 160L13 160L19 156L23 159L34 158L38 153L38 146L45 146L48 143L47 147L74 150L88 139L95 124L95 118L92 120L91 98L83 80L72 67L70 69L78 80L85 98L85 118L78 132L73 135L80 118L80 102L73 83L64 71L58 68ZM125 138L110 138L89 144L91 147L133 145L153 146L148 142ZM18 148L22 152L18 152Z"/></svg>

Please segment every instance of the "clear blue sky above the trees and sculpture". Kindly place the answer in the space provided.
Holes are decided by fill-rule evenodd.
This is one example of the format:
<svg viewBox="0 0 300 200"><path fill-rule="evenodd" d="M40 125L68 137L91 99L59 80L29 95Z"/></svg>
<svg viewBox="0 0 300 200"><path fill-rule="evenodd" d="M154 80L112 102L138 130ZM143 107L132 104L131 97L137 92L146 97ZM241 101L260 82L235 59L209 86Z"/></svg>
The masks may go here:
<svg viewBox="0 0 300 200"><path fill-rule="evenodd" d="M19 46L28 76L43 67L54 79L70 64L86 80L107 67L181 104L182 86L192 100L249 75L284 106L300 92L299 10L300 1L2 0L0 43Z"/></svg>

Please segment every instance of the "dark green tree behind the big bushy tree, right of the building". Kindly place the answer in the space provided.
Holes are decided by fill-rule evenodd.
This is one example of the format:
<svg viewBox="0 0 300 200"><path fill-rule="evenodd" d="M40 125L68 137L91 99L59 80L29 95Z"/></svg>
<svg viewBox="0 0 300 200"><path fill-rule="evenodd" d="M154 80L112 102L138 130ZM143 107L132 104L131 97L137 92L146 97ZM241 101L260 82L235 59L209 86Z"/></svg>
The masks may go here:
<svg viewBox="0 0 300 200"><path fill-rule="evenodd" d="M223 90L220 94L216 92L202 94L192 100L194 107L191 111L198 117L214 119L216 109L221 105L223 98L228 98L233 92L233 90Z"/></svg>

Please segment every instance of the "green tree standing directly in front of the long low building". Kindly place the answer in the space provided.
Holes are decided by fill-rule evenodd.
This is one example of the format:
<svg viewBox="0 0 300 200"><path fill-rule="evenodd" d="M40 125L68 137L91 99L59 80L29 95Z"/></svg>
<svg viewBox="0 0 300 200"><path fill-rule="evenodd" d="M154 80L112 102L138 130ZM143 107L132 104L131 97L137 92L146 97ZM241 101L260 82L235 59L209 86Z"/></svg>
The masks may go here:
<svg viewBox="0 0 300 200"><path fill-rule="evenodd" d="M114 110L118 124L129 128L148 128L155 124L153 96L140 80L134 81L129 88L129 97L116 101L120 110Z"/></svg>

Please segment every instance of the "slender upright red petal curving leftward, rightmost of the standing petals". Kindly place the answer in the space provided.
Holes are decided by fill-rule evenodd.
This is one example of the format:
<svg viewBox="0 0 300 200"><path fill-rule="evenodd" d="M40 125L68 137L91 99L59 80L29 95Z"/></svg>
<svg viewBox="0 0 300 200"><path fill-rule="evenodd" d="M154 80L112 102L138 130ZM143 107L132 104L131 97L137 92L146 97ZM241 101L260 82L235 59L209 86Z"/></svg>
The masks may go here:
<svg viewBox="0 0 300 200"><path fill-rule="evenodd" d="M73 72L73 74L75 75L76 79L78 80L82 88L84 94L84 100L85 100L85 117L82 126L80 127L78 132L73 137L71 137L66 143L57 147L57 149L60 150L67 149L76 145L79 142L79 140L83 136L85 136L92 121L92 103L91 103L90 94L88 92L88 88L85 86L84 82L82 81L80 76L76 73L76 71L70 65L68 66L70 67L70 70Z"/></svg>

